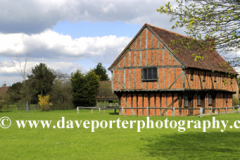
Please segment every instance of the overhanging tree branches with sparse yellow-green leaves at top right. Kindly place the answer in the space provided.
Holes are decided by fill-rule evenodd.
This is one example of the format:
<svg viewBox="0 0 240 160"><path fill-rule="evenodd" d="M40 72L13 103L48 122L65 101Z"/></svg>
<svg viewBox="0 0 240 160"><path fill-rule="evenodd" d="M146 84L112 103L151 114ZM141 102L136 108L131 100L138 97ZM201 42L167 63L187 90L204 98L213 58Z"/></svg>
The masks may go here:
<svg viewBox="0 0 240 160"><path fill-rule="evenodd" d="M176 2L178 7L174 9L168 2L157 11L171 15L170 21L176 21L172 29L185 27L187 36L192 39L173 40L173 45L181 43L198 51L216 49L232 67L240 66L240 57L233 53L240 48L240 0L176 0ZM195 60L204 58L201 54L193 56Z"/></svg>

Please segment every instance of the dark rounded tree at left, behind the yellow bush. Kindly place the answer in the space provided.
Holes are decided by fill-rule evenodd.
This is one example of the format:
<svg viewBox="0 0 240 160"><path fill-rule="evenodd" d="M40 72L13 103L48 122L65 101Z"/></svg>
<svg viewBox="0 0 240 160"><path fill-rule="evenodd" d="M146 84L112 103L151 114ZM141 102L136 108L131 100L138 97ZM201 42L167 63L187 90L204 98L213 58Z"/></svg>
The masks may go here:
<svg viewBox="0 0 240 160"><path fill-rule="evenodd" d="M36 91L37 95L40 94L42 97L51 91L55 78L56 75L44 63L33 67L32 74L28 76L28 79L33 81L32 89ZM38 97L37 95L35 99Z"/></svg>

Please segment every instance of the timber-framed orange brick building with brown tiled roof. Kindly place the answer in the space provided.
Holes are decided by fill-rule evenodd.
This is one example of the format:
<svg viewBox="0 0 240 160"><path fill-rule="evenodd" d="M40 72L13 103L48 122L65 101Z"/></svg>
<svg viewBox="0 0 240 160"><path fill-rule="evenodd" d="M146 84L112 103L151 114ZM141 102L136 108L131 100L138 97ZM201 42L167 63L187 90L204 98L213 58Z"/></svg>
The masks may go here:
<svg viewBox="0 0 240 160"><path fill-rule="evenodd" d="M199 114L187 108L232 107L237 72L230 66L219 67L226 62L216 51L201 52L208 60L196 62L194 50L179 45L174 52L170 43L179 37L184 36L149 24L140 29L109 67L120 107L185 108L176 110L181 115ZM128 109L123 114L147 115L144 109ZM159 116L160 110L150 109L151 115Z"/></svg>

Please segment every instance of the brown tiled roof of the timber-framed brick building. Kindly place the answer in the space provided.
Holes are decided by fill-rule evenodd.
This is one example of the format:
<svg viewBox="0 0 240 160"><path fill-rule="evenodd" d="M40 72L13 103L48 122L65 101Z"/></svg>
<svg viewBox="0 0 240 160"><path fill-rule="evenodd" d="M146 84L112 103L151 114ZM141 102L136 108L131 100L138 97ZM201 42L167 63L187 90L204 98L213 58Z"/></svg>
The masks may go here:
<svg viewBox="0 0 240 160"><path fill-rule="evenodd" d="M188 68L198 68L198 69L204 69L204 70L214 70L214 71L220 71L220 72L228 72L228 73L234 73L238 74L234 69L232 69L231 66L226 67L219 67L220 64L226 63L226 61L216 52L210 52L207 51L200 51L201 56L208 57L204 59L198 59L196 62L194 61L195 57L192 56L192 54L197 55L199 51L187 49L183 45L172 45L171 40L177 40L179 38L184 38L186 36L180 35L175 32L171 32L159 27L152 26L150 24L145 24L142 29L138 32L138 34L132 39L132 41L128 44L128 46L122 51L122 53L118 56L118 58L113 62L113 64L109 67L111 69L113 66L116 65L118 60L123 56L126 49L134 42L135 38L141 33L141 31L148 27L150 30L152 30L155 35L173 52L173 54L176 56L180 62L188 67ZM189 38L189 37L187 37ZM178 50L178 52L174 52L174 50ZM210 61L209 61L210 60ZM228 68L231 68L231 70L228 70Z"/></svg>

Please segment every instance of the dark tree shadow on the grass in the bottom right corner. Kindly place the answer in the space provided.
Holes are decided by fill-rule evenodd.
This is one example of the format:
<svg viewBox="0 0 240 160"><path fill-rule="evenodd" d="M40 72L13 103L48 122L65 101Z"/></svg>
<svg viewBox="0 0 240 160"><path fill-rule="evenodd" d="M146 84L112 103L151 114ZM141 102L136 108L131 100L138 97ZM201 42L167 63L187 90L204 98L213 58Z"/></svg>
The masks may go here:
<svg viewBox="0 0 240 160"><path fill-rule="evenodd" d="M239 132L192 132L144 138L148 157L166 159L239 159Z"/></svg>

